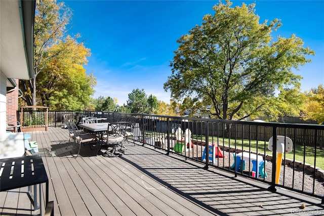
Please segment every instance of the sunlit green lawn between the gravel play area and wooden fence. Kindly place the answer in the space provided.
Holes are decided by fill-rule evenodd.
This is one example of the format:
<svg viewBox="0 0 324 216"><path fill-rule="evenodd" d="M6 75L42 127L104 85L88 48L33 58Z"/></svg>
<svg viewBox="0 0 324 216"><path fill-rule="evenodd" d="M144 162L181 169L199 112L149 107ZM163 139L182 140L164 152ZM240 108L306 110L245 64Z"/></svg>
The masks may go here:
<svg viewBox="0 0 324 216"><path fill-rule="evenodd" d="M205 141L205 137L201 138L201 136L193 136L194 139L197 140L203 140ZM217 137L210 137L210 142L217 143ZM229 144L230 143L230 144ZM251 143L251 147L249 149L249 145ZM231 139L230 141L228 138L219 138L218 140L219 145L224 145L227 147L233 147L235 148L235 140ZM243 145L243 147L242 147ZM257 141L256 140L236 140L236 148L237 149L244 149L244 150L250 150L253 152L257 152ZM305 163L314 165L314 155L315 155L315 148L311 146L306 146L304 149L304 146L302 145L295 145L295 149L291 153L286 153L286 158L288 159L294 159L294 151L295 151L295 160L296 161L304 161L304 152L305 152ZM266 155L272 155L272 152L268 150L268 142L264 143L264 141L258 141L258 153ZM316 166L324 169L324 149L320 150L319 148L316 150Z"/></svg>

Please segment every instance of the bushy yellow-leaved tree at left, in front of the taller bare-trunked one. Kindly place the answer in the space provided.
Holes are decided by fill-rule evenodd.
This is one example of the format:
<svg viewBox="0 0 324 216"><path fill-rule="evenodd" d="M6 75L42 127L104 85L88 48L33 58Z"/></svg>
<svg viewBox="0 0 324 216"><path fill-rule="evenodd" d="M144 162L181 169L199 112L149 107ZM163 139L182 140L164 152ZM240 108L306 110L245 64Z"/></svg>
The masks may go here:
<svg viewBox="0 0 324 216"><path fill-rule="evenodd" d="M62 48L66 46L67 48ZM43 106L51 109L84 109L90 102L90 95L94 93L95 77L88 76L82 66L87 63L89 49L83 44L77 44L72 38L59 42L48 49L48 53L57 50L66 52L52 58L36 78L36 89Z"/></svg>

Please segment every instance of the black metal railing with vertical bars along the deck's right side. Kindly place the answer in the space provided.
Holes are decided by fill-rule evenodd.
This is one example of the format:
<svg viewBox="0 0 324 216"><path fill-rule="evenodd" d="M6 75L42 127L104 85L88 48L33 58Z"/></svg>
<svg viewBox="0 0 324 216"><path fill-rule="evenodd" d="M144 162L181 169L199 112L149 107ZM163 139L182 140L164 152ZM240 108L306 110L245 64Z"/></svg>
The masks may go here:
<svg viewBox="0 0 324 216"><path fill-rule="evenodd" d="M134 139L143 145L151 145L167 154L178 154L204 163L205 168L214 166L233 173L235 177L239 175L262 181L269 184L270 190L277 187L287 188L321 198L324 203L323 125L102 111L50 111L49 126L61 126L65 120L77 123L84 116L107 118L108 122L128 121L130 125L139 127L141 135ZM178 128L182 132L185 129L190 130L192 144L186 143L185 139L176 140L175 133ZM269 139L272 137L276 140L279 136L290 138L293 142L292 151L282 152L281 161L277 160L277 145L273 145L272 151L268 148ZM240 154L247 154L249 158L259 155L263 158L264 170L260 164L253 163L252 159L252 162L245 161L247 163L237 160ZM240 164L237 163L239 165L236 166L234 161ZM260 176L254 176L255 170Z"/></svg>

